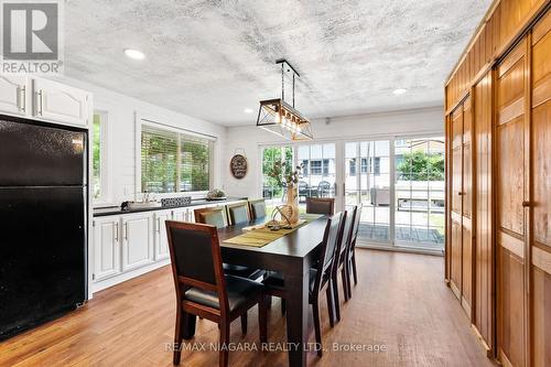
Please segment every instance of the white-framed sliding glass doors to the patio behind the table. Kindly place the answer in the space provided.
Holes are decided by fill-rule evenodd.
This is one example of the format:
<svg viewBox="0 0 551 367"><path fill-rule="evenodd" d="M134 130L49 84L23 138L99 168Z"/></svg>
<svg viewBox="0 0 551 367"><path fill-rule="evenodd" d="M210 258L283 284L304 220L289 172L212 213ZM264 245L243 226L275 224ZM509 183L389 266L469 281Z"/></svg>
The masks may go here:
<svg viewBox="0 0 551 367"><path fill-rule="evenodd" d="M303 166L299 203L335 197L335 209L361 205L360 244L442 250L444 138L316 142L262 147L262 196L269 209L285 188L267 173L274 162ZM271 213L271 212L270 212Z"/></svg>

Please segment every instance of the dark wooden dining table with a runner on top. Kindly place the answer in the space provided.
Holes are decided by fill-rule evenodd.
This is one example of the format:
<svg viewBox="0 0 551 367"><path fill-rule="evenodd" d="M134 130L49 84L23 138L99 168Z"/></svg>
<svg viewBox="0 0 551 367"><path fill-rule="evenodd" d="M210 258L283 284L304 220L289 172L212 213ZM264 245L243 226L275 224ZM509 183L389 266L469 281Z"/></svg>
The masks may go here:
<svg viewBox="0 0 551 367"><path fill-rule="evenodd" d="M244 228L258 226L267 222L260 218L218 229L223 261L247 266L255 269L277 271L283 276L287 302L285 349L289 353L289 366L306 366L309 349L309 270L318 259L327 216L309 220L298 229L262 246L247 246L225 242L239 236ZM195 322L190 323L184 332L186 338L193 337Z"/></svg>

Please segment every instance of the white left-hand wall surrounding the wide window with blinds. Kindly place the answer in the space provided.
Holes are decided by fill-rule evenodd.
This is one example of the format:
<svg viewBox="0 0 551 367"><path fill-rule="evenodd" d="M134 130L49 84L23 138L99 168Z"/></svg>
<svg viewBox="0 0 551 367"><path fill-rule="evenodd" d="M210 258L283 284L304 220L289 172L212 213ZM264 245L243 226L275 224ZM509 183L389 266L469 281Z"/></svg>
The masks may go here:
<svg viewBox="0 0 551 367"><path fill-rule="evenodd" d="M110 202L120 205L122 201L134 199L136 194L136 114L165 125L180 127L217 138L214 147L213 184L219 187L223 182L223 148L226 128L208 121L177 114L136 98L131 98L105 88L75 80L56 80L82 88L94 94L95 110L108 114L108 172L110 182Z"/></svg>

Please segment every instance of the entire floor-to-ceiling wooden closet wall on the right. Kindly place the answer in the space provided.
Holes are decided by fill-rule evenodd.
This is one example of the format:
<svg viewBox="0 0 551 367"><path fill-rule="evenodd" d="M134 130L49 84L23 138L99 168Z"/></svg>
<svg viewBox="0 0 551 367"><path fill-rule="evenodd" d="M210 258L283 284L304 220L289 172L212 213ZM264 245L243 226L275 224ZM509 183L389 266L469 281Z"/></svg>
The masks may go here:
<svg viewBox="0 0 551 367"><path fill-rule="evenodd" d="M446 277L504 366L551 366L548 4L497 1L446 85Z"/></svg>

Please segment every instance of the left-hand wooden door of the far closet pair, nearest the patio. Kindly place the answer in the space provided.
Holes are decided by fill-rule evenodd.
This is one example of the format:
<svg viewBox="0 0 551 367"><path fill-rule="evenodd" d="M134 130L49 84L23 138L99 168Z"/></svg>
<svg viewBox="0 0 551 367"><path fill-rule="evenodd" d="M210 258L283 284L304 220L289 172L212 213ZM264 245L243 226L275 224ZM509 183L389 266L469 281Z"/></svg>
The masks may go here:
<svg viewBox="0 0 551 367"><path fill-rule="evenodd" d="M462 298L463 242L462 242L462 192L463 192L463 105L452 114L452 211L451 211L451 272L450 285L458 300Z"/></svg>

